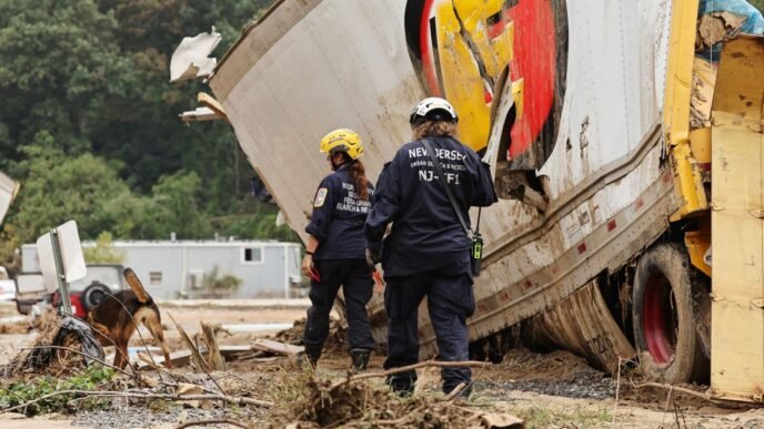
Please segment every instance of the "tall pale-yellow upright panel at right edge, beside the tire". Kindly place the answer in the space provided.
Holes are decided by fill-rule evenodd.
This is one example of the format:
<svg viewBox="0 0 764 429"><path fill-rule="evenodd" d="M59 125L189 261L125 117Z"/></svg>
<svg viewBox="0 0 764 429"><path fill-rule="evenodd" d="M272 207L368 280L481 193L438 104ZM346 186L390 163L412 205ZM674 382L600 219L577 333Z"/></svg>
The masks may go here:
<svg viewBox="0 0 764 429"><path fill-rule="evenodd" d="M764 398L764 38L725 42L712 109L711 387Z"/></svg>

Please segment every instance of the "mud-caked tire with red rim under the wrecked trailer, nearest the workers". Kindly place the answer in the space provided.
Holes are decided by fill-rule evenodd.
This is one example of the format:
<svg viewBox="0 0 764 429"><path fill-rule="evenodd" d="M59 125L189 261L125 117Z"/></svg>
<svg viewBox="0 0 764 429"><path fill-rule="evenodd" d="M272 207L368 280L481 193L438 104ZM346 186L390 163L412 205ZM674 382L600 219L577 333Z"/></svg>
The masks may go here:
<svg viewBox="0 0 764 429"><path fill-rule="evenodd" d="M685 249L671 243L651 247L634 276L634 343L643 371L664 382L707 377L708 361L695 331L692 266Z"/></svg>

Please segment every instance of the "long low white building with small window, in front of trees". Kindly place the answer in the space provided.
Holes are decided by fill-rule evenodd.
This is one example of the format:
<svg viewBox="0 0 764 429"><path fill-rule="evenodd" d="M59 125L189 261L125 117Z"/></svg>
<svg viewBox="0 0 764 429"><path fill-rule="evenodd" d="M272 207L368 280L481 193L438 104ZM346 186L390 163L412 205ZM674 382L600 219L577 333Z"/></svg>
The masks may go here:
<svg viewBox="0 0 764 429"><path fill-rule="evenodd" d="M82 246L93 245L86 242ZM302 283L299 243L115 241L112 247L124 256L121 264L135 272L155 299L291 298ZM26 273L40 270L37 245L21 246L21 266ZM240 284L230 290L210 284L225 276Z"/></svg>

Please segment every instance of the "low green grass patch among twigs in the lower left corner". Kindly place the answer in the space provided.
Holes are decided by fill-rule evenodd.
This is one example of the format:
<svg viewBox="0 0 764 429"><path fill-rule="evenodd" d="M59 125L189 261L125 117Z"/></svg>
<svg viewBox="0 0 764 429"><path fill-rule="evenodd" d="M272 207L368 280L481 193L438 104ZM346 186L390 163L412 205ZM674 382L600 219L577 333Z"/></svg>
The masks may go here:
<svg viewBox="0 0 764 429"><path fill-rule="evenodd" d="M13 382L9 386L0 387L0 411L27 404L57 391L99 390L111 381L113 375L113 369L93 364L82 374L73 375L64 379L42 376L31 382ZM109 404L110 401L103 398L87 398L81 394L64 394L39 400L18 411L27 416L50 412L72 413L83 409L104 408Z"/></svg>

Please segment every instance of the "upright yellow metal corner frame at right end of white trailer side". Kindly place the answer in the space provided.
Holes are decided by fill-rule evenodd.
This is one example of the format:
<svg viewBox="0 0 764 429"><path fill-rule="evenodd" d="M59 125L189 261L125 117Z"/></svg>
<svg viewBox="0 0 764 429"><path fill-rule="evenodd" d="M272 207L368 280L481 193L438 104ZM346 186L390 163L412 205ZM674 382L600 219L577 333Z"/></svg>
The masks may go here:
<svg viewBox="0 0 764 429"><path fill-rule="evenodd" d="M708 207L703 175L690 146L690 100L697 4L697 0L676 0L673 3L663 112L663 126L674 172L674 188L682 202L682 217Z"/></svg>

